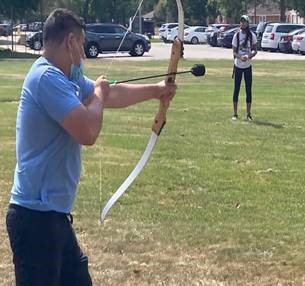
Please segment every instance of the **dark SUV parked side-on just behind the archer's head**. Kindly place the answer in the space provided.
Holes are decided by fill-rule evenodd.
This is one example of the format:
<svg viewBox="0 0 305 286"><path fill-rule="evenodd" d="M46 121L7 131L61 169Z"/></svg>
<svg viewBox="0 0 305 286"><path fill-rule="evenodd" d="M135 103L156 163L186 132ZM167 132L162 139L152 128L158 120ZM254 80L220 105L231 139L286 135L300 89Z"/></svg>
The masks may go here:
<svg viewBox="0 0 305 286"><path fill-rule="evenodd" d="M129 52L131 56L142 56L150 48L148 37L130 32L121 25L86 25L85 53L88 58L96 58L99 53L116 52L118 49L120 52Z"/></svg>

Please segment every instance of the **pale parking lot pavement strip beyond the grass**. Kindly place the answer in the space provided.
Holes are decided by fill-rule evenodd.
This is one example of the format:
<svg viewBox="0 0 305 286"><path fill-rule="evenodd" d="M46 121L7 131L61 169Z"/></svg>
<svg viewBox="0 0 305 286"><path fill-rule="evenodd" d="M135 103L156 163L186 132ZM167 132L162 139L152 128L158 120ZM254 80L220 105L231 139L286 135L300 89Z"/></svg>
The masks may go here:
<svg viewBox="0 0 305 286"><path fill-rule="evenodd" d="M11 48L9 37L0 37L0 47ZM24 45L14 44L14 50L18 52L41 54L31 50ZM171 44L153 42L152 48L142 57L131 57L128 53L107 53L100 54L99 58L118 58L124 60L162 60L168 59L170 55ZM186 59L232 59L232 50L209 45L184 45L184 58ZM305 60L305 56L299 54L283 54L279 52L259 51L255 59L258 60Z"/></svg>

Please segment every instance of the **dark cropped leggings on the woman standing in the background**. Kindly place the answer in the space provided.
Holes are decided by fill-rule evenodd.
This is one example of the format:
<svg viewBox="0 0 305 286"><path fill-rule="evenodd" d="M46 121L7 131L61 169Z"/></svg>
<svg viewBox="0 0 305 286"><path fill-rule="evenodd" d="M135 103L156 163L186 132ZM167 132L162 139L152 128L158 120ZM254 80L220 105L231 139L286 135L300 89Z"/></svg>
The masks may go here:
<svg viewBox="0 0 305 286"><path fill-rule="evenodd" d="M246 102L252 102L252 67L246 69L240 69L235 66L234 74L234 93L233 93L233 102L238 102L238 95L240 90L240 84L242 76L244 74L245 86L246 86Z"/></svg>

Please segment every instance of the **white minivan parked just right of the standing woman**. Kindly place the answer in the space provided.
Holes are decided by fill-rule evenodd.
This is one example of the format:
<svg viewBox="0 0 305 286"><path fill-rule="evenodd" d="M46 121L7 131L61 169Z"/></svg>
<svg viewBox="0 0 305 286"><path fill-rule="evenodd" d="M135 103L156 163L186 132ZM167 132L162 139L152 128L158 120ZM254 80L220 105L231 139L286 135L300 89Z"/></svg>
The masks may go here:
<svg viewBox="0 0 305 286"><path fill-rule="evenodd" d="M281 36L287 35L297 28L304 28L305 25L292 23L271 23L268 24L261 42L263 51L277 51L279 50L279 42Z"/></svg>

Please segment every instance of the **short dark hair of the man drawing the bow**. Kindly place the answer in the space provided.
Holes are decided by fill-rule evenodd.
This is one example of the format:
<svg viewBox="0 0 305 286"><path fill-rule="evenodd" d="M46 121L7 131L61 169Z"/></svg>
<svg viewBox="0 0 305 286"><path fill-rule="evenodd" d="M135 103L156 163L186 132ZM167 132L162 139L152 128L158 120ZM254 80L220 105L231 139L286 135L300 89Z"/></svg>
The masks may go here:
<svg viewBox="0 0 305 286"><path fill-rule="evenodd" d="M81 30L85 30L85 25L72 11L55 9L44 24L43 42L61 43L69 33Z"/></svg>

